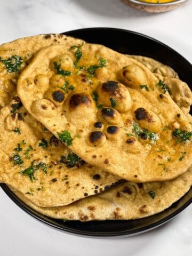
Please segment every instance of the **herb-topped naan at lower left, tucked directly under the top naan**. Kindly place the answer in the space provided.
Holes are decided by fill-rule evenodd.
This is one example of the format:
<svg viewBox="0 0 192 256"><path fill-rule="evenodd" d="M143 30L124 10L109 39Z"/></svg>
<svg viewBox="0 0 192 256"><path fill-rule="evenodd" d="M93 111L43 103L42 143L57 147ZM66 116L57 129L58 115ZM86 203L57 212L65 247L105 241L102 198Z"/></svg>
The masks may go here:
<svg viewBox="0 0 192 256"><path fill-rule="evenodd" d="M11 106L0 110L1 182L44 207L67 205L118 183L118 177L84 163L24 107L11 113Z"/></svg>

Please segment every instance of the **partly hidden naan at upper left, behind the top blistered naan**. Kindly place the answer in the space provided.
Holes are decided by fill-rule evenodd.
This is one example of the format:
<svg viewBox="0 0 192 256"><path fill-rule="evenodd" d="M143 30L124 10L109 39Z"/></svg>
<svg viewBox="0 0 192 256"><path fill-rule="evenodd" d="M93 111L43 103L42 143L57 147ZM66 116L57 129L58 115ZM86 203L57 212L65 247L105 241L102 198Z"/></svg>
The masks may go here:
<svg viewBox="0 0 192 256"><path fill-rule="evenodd" d="M81 44L81 39L68 37L61 34L47 34L19 38L9 43L0 45L0 108L10 102L10 99L17 94L17 79L20 72L28 65L34 54L42 47L49 45L70 45ZM16 57L16 58L14 58ZM21 58L21 60L19 59ZM15 68L18 72L7 72L1 60L16 62ZM7 67L9 68L9 67Z"/></svg>

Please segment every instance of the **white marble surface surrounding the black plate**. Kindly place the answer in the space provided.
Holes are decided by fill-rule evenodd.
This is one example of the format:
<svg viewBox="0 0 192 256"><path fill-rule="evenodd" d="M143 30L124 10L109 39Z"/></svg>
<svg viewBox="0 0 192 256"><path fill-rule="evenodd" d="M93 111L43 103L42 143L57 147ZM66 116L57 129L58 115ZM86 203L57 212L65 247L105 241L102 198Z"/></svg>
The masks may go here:
<svg viewBox="0 0 192 256"><path fill-rule="evenodd" d="M125 28L155 37L192 62L192 1L148 14L119 0L1 0L0 43L85 27ZM163 227L124 239L88 239L37 222L0 189L0 255L191 255L192 205Z"/></svg>

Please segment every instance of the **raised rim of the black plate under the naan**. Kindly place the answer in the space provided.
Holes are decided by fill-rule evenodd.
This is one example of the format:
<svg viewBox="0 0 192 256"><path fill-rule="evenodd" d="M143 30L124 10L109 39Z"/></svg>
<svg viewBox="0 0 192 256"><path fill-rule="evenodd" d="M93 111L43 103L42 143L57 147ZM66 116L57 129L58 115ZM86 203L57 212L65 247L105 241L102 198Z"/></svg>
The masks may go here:
<svg viewBox="0 0 192 256"><path fill-rule="evenodd" d="M103 31L111 30L111 31L114 31L114 33L115 33L115 31L121 31L122 33L130 33L130 34L133 34L133 35L137 35L137 36L140 36L140 37L143 37L143 38L150 39L151 41L156 42L159 45L162 45L162 46L166 47L166 49L168 49L169 51L171 51L172 53L177 55L179 58L183 59L183 61L186 62L186 65L188 65L192 70L191 63L187 59L185 59L181 54L179 54L177 51L173 50L170 46L167 46L166 44L158 41L157 39L155 39L153 37L149 37L145 34L141 34L141 33L138 33L136 31L120 29L120 28L110 28L110 27L92 27L92 28L83 28L83 29L70 30L70 31L66 31L66 32L61 33L61 34L74 36L74 35L72 35L73 33L78 33L79 31L80 32L81 31L90 31L90 30L103 30ZM9 196L11 198L11 200L16 205L18 205L23 211L28 213L31 217L35 218L39 222L44 223L46 226L49 226L49 227L52 227L54 229L60 230L63 233L67 233L67 234L70 234L70 235L76 235L76 236L89 237L89 238L116 238L116 237L122 237L123 238L123 237L129 237L129 236L145 233L146 231L157 228L157 227L161 226L162 224L166 223L167 221L173 219L178 213L183 211L188 205L190 205L192 203L192 196L191 196L189 199L187 199L187 201L185 203L183 203L181 206L179 206L179 208L177 210L174 210L171 214L168 214L167 216L155 221L154 223L149 223L146 226L138 227L138 228L135 228L134 230L108 231L108 232L104 230L102 232L98 232L98 231L77 230L77 229L74 229L73 227L67 227L67 226L61 225L58 222L55 223L55 221L57 221L57 220L52 219L50 217L47 217L47 216L45 216L41 213L38 213L37 211L35 211L31 207L29 207L27 204L23 203L21 201L21 199L19 199L10 190L10 188L7 187L4 183L0 183L0 187L4 190L5 194L7 196ZM190 194L191 192L192 192L192 187L189 189L189 191L185 195L183 195L183 197L185 197L188 193ZM180 198L177 202L180 202L182 198ZM175 203L177 203L177 202L175 202ZM166 210L168 210L168 209L166 209ZM162 211L162 212L164 212L164 211ZM157 214L161 214L161 213L157 213ZM155 216L157 214L154 214L152 216ZM146 217L146 218L150 218L150 217L151 216ZM146 218L143 218L143 219L146 219ZM117 221L121 221L121 220L117 220Z"/></svg>

